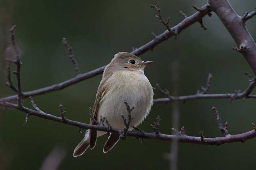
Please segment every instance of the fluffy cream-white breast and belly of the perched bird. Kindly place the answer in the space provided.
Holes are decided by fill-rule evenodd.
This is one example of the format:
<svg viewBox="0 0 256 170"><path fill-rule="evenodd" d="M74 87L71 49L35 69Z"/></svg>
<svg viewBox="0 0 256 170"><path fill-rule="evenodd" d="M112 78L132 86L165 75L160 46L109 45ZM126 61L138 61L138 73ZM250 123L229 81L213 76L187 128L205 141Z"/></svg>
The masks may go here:
<svg viewBox="0 0 256 170"><path fill-rule="evenodd" d="M126 101L131 108L134 107L131 112L133 119L130 126L137 126L146 118L152 106L152 86L144 74L134 71L122 71L114 74L108 80L112 86L102 98L97 118L99 119L102 115L113 127L124 128L121 114L128 120L128 111L124 104Z"/></svg>

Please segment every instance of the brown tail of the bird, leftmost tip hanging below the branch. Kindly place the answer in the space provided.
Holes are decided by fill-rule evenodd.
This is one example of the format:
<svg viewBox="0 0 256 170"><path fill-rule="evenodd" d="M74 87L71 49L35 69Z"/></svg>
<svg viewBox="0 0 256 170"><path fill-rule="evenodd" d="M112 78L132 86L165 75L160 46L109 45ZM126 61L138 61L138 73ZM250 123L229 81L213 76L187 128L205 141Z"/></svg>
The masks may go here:
<svg viewBox="0 0 256 170"><path fill-rule="evenodd" d="M86 131L84 139L74 149L74 157L81 156L90 146L89 130Z"/></svg>

